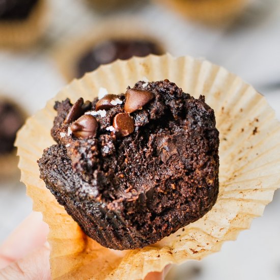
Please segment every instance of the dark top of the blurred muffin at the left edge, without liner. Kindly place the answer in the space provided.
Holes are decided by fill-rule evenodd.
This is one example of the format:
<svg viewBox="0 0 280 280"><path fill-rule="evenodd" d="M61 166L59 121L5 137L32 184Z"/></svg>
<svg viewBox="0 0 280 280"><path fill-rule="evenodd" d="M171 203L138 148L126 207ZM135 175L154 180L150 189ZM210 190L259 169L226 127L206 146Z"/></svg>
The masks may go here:
<svg viewBox="0 0 280 280"><path fill-rule="evenodd" d="M0 100L0 154L13 151L16 132L23 123L21 111L9 101Z"/></svg>

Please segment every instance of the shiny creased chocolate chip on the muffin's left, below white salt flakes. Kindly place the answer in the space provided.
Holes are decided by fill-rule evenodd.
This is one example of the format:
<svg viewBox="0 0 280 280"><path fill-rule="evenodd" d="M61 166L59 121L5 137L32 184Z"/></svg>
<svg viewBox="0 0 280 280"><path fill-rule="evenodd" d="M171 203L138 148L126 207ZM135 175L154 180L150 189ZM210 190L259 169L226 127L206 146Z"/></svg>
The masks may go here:
<svg viewBox="0 0 280 280"><path fill-rule="evenodd" d="M98 122L92 115L83 115L70 128L74 136L78 138L89 138L96 135Z"/></svg>

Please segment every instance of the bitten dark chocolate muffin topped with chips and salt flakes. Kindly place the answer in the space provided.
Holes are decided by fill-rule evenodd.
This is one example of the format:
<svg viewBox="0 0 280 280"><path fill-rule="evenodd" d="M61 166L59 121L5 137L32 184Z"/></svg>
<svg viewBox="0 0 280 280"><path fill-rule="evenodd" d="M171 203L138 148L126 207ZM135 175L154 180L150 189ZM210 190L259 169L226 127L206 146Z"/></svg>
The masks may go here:
<svg viewBox="0 0 280 280"><path fill-rule="evenodd" d="M201 218L218 194L218 131L203 96L169 80L125 94L55 102L56 145L41 178L82 230L113 249L142 248Z"/></svg>

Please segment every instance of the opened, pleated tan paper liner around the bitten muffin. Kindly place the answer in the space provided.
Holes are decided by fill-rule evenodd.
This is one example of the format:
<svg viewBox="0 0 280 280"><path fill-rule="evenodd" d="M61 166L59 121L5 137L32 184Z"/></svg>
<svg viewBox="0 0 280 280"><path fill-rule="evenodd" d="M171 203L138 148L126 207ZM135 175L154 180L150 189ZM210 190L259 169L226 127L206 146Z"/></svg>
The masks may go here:
<svg viewBox="0 0 280 280"><path fill-rule="evenodd" d="M54 101L92 100L103 87L125 92L138 80L170 79L195 98L205 95L220 132L220 190L216 204L201 219L143 249L115 251L87 237L39 178L37 160L54 144L50 136ZM167 264L200 260L236 239L263 214L280 183L280 124L265 98L236 75L191 57L149 55L101 66L74 80L44 109L27 120L16 146L21 179L50 227L53 279L141 279Z"/></svg>

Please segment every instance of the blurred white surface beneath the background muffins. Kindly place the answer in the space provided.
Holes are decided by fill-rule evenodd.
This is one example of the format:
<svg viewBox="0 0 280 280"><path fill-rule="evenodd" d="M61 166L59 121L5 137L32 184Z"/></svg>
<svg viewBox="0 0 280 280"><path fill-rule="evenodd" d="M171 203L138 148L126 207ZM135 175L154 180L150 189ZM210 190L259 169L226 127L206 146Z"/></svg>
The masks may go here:
<svg viewBox="0 0 280 280"><path fill-rule="evenodd" d="M103 19L80 1L50 0L51 25L43 42L26 52L0 51L0 92L13 96L30 114L44 106L65 84L51 58L56 42ZM280 119L280 1L256 1L234 26L209 29L194 25L163 7L121 12L139 17L174 55L205 57L225 66L261 91ZM0 243L31 211L25 187L0 182ZM280 191L264 216L253 221L237 241L201 262L180 266L175 279L280 279ZM202 268L193 273L193 267ZM191 270L192 269L192 270Z"/></svg>

